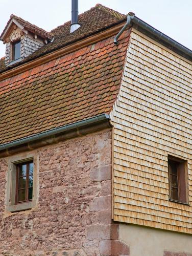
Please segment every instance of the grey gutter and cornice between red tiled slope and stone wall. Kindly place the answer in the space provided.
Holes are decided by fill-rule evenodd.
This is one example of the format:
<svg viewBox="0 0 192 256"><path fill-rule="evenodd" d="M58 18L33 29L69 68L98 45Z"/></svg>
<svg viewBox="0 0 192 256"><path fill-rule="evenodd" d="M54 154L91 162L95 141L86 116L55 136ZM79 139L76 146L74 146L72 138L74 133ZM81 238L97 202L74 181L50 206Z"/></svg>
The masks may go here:
<svg viewBox="0 0 192 256"><path fill-rule="evenodd" d="M40 146L57 143L59 141L106 129L111 127L109 119L109 115L102 114L9 143L1 144L0 157L10 156L26 150L34 150L34 148Z"/></svg>

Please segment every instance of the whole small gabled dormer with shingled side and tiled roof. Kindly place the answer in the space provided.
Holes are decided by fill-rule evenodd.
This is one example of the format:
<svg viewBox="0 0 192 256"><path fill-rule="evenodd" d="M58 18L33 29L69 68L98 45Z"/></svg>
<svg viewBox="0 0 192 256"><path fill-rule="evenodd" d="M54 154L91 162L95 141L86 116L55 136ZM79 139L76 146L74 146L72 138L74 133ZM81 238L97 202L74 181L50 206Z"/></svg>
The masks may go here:
<svg viewBox="0 0 192 256"><path fill-rule="evenodd" d="M52 33L12 14L0 35L0 40L6 44L5 65L10 66L25 59L53 39Z"/></svg>

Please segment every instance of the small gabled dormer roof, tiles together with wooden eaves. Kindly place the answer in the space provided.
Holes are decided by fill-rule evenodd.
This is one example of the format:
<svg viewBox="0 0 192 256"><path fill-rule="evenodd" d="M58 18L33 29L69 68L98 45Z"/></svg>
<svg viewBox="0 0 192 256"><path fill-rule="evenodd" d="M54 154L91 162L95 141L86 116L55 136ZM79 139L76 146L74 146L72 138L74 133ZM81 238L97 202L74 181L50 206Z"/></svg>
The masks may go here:
<svg viewBox="0 0 192 256"><path fill-rule="evenodd" d="M17 17L14 14L11 14L10 19L8 20L8 23L2 32L0 39L4 42L6 42L6 38L9 37L10 33L13 30L13 26L16 25L18 28L20 28L22 31L29 31L31 33L34 33L38 36L40 36L43 39L47 39L51 41L54 37L54 35L50 32L45 31L44 29L41 29L37 27L36 25L33 25L26 20Z"/></svg>

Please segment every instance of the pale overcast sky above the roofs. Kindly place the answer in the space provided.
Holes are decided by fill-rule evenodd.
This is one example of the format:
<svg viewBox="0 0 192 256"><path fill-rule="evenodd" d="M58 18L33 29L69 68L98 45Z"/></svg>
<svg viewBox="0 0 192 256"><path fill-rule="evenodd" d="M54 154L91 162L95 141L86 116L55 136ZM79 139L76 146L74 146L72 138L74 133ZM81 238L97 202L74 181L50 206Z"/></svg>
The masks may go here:
<svg viewBox="0 0 192 256"><path fill-rule="evenodd" d="M79 0L79 13L96 4L118 12L134 12L151 26L192 50L192 0ZM70 20L71 0L0 0L2 33L13 13L32 24L50 31ZM5 46L0 42L0 57Z"/></svg>

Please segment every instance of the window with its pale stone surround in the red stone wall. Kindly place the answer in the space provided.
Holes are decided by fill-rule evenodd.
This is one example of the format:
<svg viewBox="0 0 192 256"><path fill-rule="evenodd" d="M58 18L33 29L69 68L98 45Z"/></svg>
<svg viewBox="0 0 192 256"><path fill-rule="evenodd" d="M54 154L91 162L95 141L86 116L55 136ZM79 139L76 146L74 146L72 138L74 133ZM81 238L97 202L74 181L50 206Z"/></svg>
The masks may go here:
<svg viewBox="0 0 192 256"><path fill-rule="evenodd" d="M39 160L37 152L10 156L6 183L6 210L29 210L38 204Z"/></svg>

